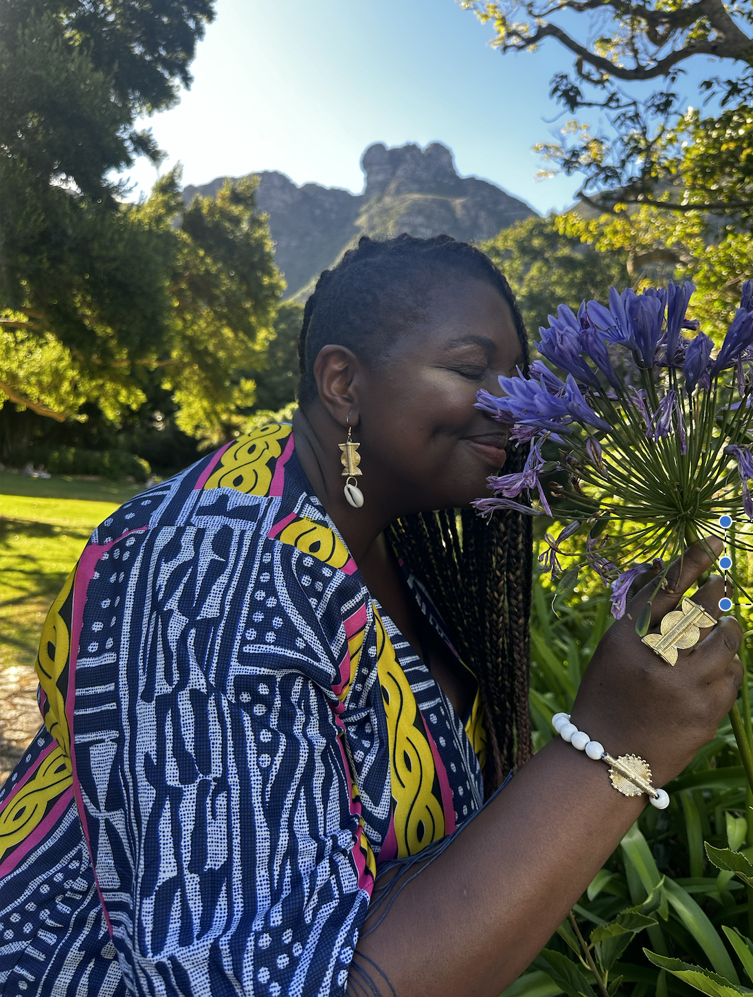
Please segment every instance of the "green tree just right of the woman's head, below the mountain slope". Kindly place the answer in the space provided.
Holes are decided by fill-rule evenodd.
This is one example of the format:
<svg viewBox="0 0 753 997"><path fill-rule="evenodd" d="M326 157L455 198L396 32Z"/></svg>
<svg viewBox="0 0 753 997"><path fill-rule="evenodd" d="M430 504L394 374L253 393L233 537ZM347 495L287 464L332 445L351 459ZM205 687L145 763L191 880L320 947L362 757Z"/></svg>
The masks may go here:
<svg viewBox="0 0 753 997"><path fill-rule="evenodd" d="M577 309L584 298L605 300L611 284L621 290L629 284L627 252L597 251L580 236L561 232L550 214L516 221L483 243L507 277L529 332L548 324L547 315L562 302Z"/></svg>

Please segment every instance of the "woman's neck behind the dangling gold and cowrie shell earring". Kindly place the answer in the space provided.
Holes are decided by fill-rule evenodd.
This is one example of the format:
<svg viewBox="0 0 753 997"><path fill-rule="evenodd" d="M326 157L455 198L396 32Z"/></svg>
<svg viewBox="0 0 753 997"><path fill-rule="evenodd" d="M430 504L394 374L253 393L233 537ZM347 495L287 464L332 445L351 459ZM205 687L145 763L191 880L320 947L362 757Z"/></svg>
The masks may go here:
<svg viewBox="0 0 753 997"><path fill-rule="evenodd" d="M293 417L296 456L309 479L314 494L322 502L330 518L348 544L354 560L363 569L370 558L383 554L382 533L385 527L400 514L392 508L377 481L369 480L368 455L365 455L364 495L361 508L354 508L345 497L346 479L340 461L344 432L328 413L312 406L308 412L299 409ZM382 477L382 476L375 476ZM361 481L359 481L361 486Z"/></svg>

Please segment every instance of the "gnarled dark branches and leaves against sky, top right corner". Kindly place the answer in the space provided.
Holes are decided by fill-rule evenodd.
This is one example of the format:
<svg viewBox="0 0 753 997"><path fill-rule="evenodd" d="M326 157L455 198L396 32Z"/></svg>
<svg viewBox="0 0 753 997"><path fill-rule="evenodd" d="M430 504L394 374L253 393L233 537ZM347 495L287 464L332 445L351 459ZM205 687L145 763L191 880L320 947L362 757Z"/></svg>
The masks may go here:
<svg viewBox="0 0 753 997"><path fill-rule="evenodd" d="M600 207L651 203L679 214L749 215L749 3L463 0L463 6L494 24L493 44L503 53L532 51L550 38L573 53L574 74L555 76L552 95L571 113L607 112L611 128L600 133L569 122L561 142L539 148L555 168L584 176L582 196ZM705 117L673 89L699 55L725 62L731 74L701 82L698 103L719 105ZM644 88L635 85L652 81L660 86L642 97Z"/></svg>

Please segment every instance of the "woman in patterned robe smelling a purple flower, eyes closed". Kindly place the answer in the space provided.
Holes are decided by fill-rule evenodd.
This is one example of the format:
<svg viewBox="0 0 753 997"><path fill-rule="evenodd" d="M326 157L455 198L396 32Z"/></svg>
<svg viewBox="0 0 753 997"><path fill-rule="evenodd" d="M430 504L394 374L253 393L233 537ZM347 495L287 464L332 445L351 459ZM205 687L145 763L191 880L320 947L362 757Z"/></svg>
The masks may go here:
<svg viewBox="0 0 753 997"><path fill-rule="evenodd" d="M3 993L494 997L525 969L645 802L560 739L528 761L528 520L468 510L522 460L476 392L527 358L478 250L362 240L307 304L292 430L96 530L0 801ZM709 563L688 550L654 625ZM724 619L670 669L628 615L573 721L660 786L739 642Z"/></svg>

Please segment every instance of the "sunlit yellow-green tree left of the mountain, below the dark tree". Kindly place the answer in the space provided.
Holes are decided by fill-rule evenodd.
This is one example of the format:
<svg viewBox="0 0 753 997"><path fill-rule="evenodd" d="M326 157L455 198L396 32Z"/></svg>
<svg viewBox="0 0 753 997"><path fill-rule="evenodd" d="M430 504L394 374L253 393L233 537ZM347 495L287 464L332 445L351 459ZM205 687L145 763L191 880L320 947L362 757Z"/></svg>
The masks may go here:
<svg viewBox="0 0 753 997"><path fill-rule="evenodd" d="M283 284L256 180L187 208L178 180L173 171L142 204L121 205L102 234L99 213L90 224L82 212L87 271L0 319L0 387L12 401L61 421L95 403L119 422L145 403L156 371L180 430L210 443L232 435L254 404L242 372L262 361Z"/></svg>

